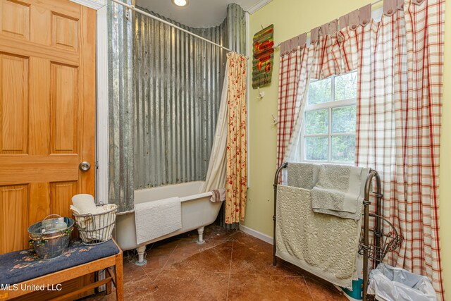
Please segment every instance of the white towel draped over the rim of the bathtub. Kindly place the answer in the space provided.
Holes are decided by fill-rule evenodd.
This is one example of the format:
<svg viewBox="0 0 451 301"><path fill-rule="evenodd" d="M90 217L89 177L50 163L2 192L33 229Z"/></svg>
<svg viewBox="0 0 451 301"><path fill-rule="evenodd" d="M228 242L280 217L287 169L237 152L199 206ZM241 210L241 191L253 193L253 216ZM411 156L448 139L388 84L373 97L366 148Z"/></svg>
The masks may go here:
<svg viewBox="0 0 451 301"><path fill-rule="evenodd" d="M138 245L182 228L180 198L135 204L135 224Z"/></svg>

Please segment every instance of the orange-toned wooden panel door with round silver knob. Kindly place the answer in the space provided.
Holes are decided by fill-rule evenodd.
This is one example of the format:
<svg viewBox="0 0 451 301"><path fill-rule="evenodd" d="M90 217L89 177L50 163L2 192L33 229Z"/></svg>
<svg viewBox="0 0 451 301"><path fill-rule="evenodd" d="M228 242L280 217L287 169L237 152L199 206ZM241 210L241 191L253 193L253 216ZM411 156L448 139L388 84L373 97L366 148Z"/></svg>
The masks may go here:
<svg viewBox="0 0 451 301"><path fill-rule="evenodd" d="M71 216L73 195L94 195L95 42L91 8L0 0L0 254L26 248L45 216Z"/></svg>

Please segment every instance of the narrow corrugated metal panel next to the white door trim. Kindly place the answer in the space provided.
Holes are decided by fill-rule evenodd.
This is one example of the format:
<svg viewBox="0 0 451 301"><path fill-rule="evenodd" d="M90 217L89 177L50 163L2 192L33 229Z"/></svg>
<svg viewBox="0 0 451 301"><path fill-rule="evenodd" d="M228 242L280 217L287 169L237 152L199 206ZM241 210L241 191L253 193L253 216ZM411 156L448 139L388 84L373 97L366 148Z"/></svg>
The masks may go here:
<svg viewBox="0 0 451 301"><path fill-rule="evenodd" d="M135 128L132 15L108 2L109 16L109 202L119 211L132 210ZM132 4L132 0L125 1ZM130 12L130 11L129 11Z"/></svg>

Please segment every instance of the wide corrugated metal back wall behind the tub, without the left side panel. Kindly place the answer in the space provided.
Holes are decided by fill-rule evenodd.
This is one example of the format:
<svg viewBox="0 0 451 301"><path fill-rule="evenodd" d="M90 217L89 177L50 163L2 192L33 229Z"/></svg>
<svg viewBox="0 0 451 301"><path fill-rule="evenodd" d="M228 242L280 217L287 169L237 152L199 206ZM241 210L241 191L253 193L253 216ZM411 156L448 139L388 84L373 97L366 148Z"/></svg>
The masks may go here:
<svg viewBox="0 0 451 301"><path fill-rule="evenodd" d="M196 29L175 24L226 47L232 42L235 48L235 37L245 39L231 25L243 22L240 13L244 16L240 6L231 4L226 20L216 27ZM221 100L225 54L219 47L137 14L136 189L205 180Z"/></svg>

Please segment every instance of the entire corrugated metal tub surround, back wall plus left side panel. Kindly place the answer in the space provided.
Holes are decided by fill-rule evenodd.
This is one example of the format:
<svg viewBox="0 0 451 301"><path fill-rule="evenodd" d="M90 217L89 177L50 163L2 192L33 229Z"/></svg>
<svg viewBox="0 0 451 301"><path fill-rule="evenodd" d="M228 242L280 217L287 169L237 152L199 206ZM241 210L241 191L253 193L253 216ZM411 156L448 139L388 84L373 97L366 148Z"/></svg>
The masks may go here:
<svg viewBox="0 0 451 301"><path fill-rule="evenodd" d="M226 64L223 49L139 13L129 18L109 4L109 191L121 211L133 209L133 188L205 179ZM245 52L236 4L221 25L185 29Z"/></svg>

